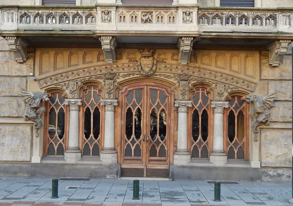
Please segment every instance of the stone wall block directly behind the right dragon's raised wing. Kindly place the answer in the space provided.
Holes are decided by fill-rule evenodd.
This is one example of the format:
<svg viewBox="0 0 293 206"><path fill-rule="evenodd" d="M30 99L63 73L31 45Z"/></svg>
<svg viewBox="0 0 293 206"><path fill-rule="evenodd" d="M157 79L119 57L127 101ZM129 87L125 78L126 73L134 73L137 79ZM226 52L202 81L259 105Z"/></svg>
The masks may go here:
<svg viewBox="0 0 293 206"><path fill-rule="evenodd" d="M268 93L276 93L276 100L292 100L292 81L268 81Z"/></svg>

